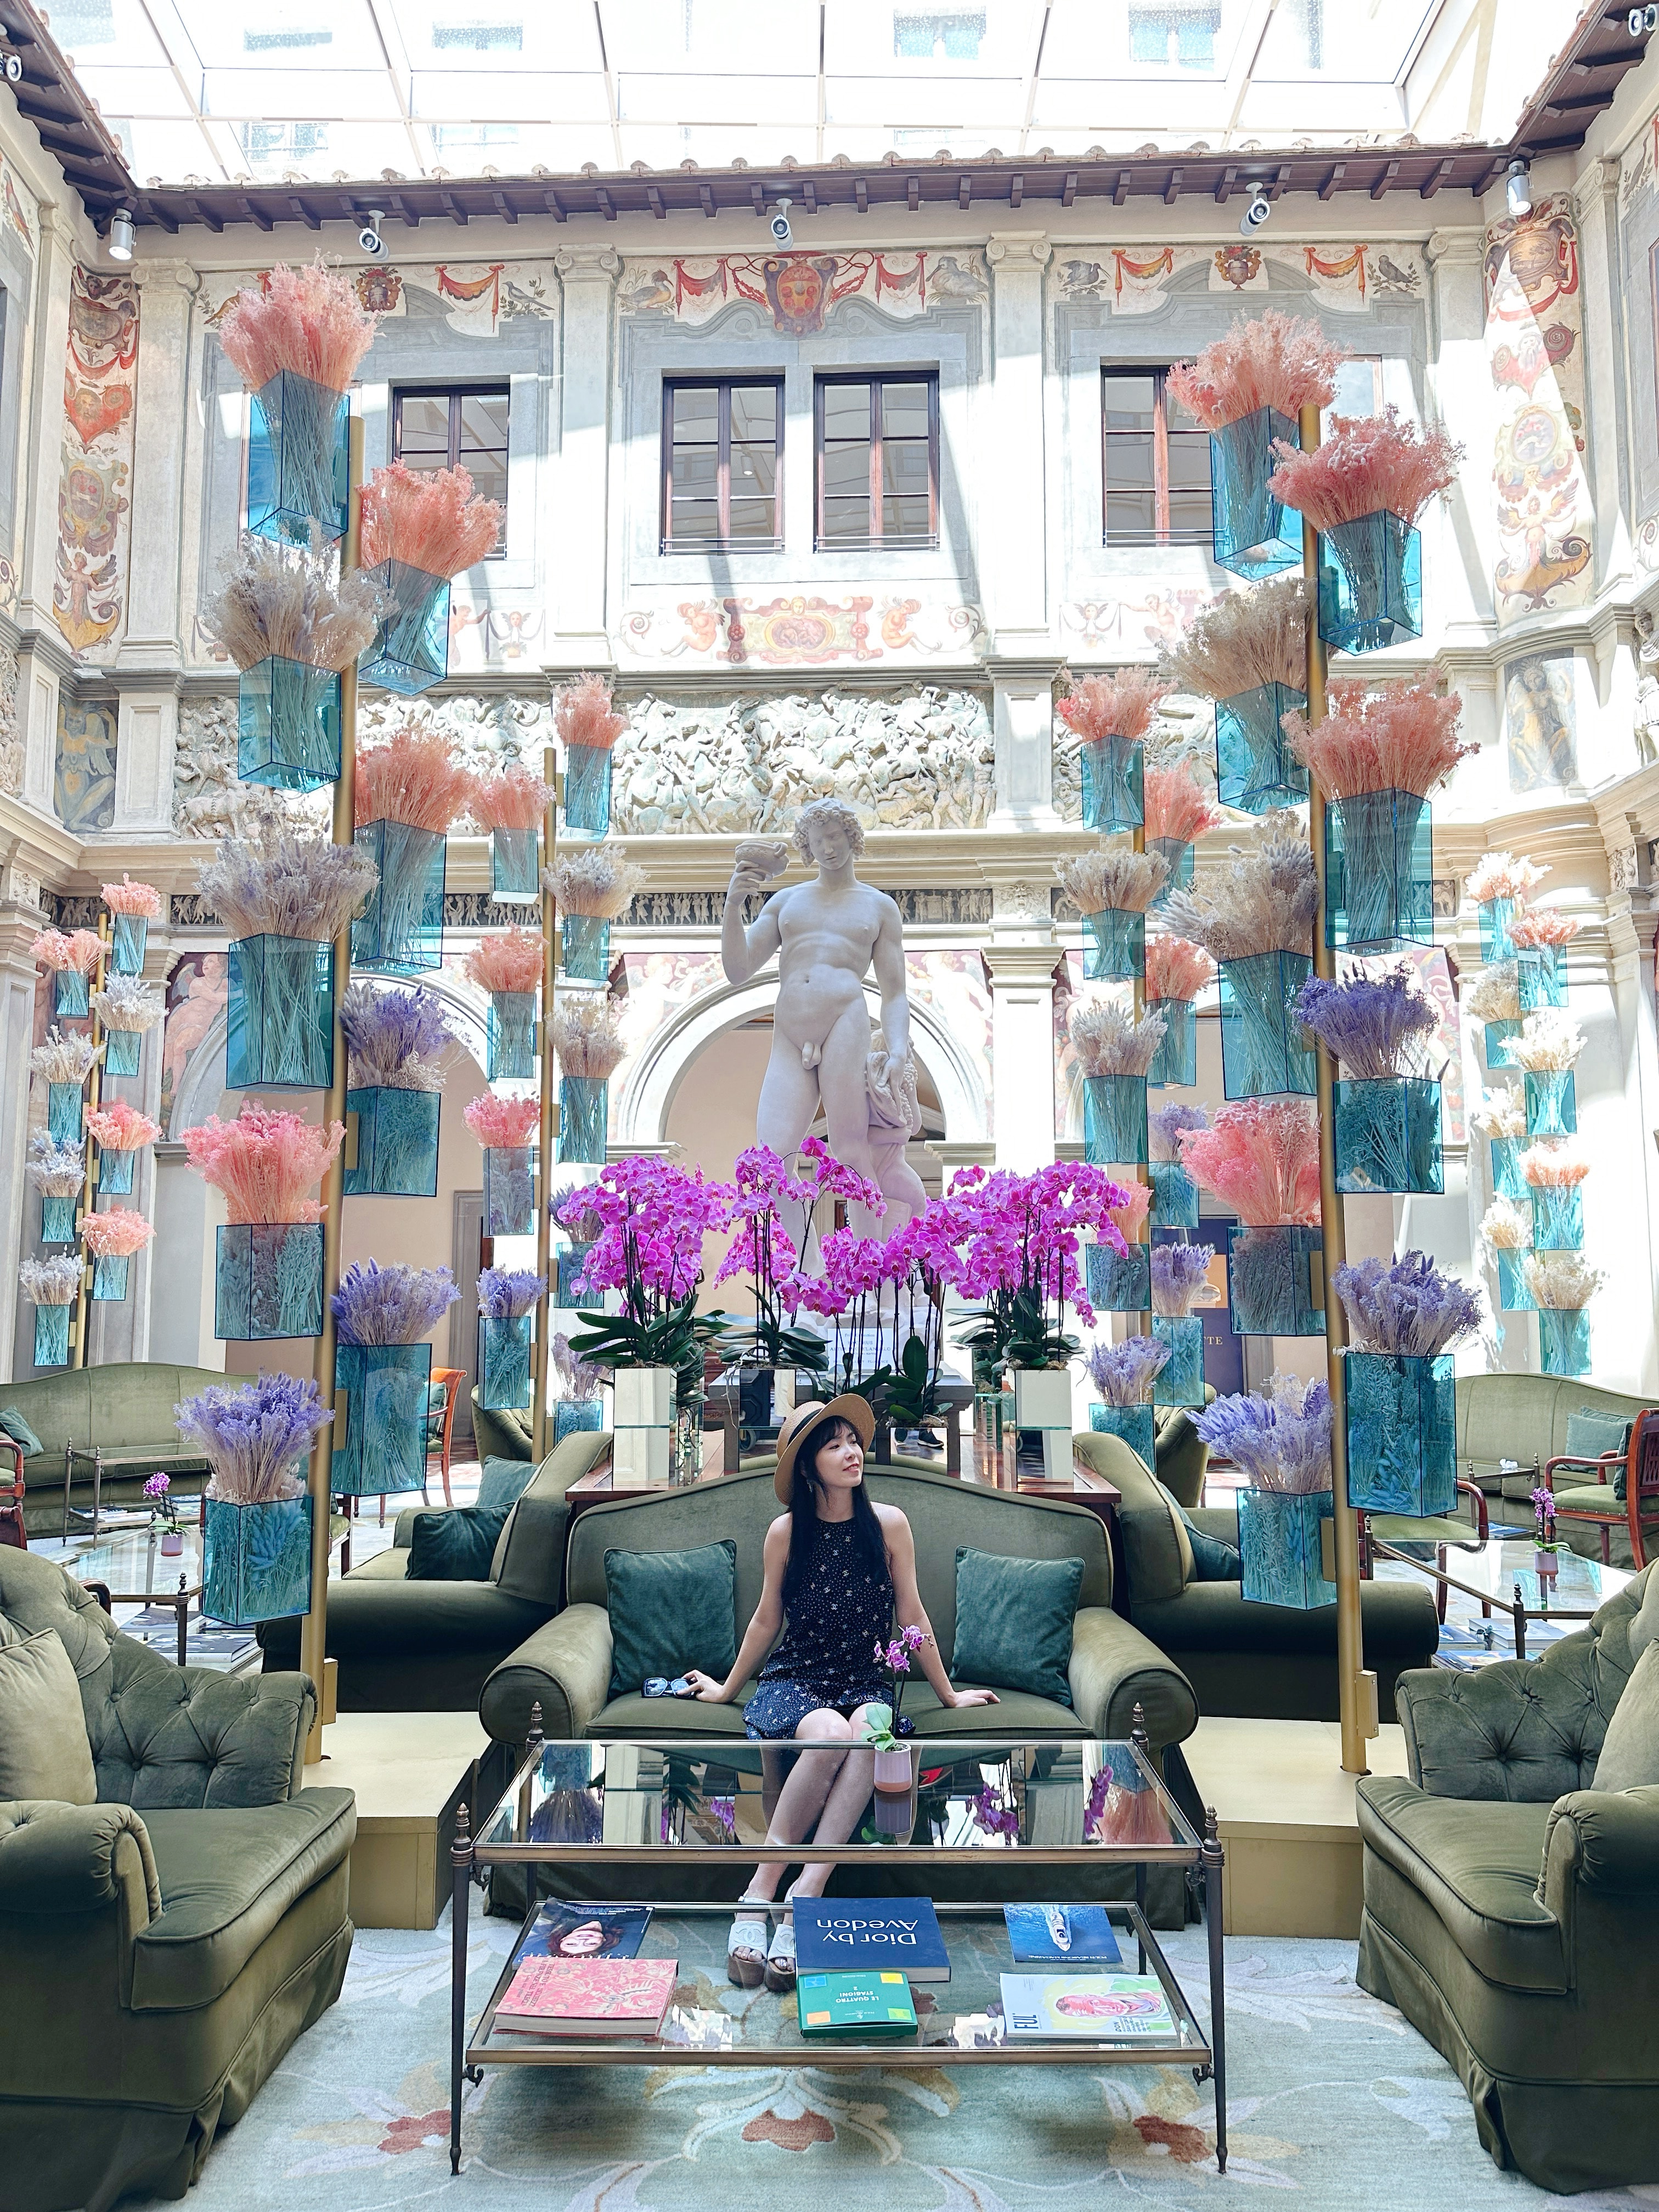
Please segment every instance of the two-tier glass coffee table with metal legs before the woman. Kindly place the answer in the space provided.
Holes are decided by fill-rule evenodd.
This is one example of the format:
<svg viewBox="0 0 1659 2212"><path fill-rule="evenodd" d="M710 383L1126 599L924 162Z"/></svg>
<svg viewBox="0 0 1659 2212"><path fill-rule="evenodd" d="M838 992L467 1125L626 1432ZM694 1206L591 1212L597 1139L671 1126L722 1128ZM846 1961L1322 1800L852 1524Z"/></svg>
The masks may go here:
<svg viewBox="0 0 1659 2212"><path fill-rule="evenodd" d="M823 1743L761 1745L743 1736L551 1743L540 1734L538 1708L518 1774L480 1832L471 1834L465 1805L456 1818L451 2172L460 2172L462 2081L482 2081L484 2066L971 2064L1190 2066L1194 2081L1214 2079L1217 2168L1225 2172L1223 1854L1214 1814L1206 1816L1206 1834L1197 1836L1164 1787L1139 1728L1128 1743L911 1736L907 1747L907 1792L872 1794L849 1843L792 1845L787 1856L794 1863L807 1856L834 1860L845 1869L836 1887L854 1896L865 1878L880 1891L900 1887L927 1896L933 1887L945 1889L933 1909L951 1978L942 1984L918 1982L911 1991L918 2015L911 2039L821 2044L801 2035L792 1991L779 1997L728 1982L726 1938L745 1867L761 1856L781 1754L821 1752ZM1113 1840L1104 1840L1104 1832ZM1203 1898L1208 2033L1146 1918L1146 1869L1157 1865L1186 1869L1188 1885ZM520 1933L529 1931L549 1896L586 1902L604 1896L617 1905L648 1898L653 1911L639 1955L679 1962L661 2031L586 2042L507 2033L495 2026L495 2013L515 1960L507 1962L469 2028L467 1913L473 1882L491 1867L526 1871L531 1909ZM1115 1971L1157 1975L1172 2022L1168 2035L1155 2042L1009 2035L1000 1975L1057 1971L1053 1964L1015 1966L1002 1913L1004 1902L1048 1902L1053 1889L1044 1869L1066 1869L1066 1880L1057 1885L1066 1902L1106 1907L1124 1953ZM1115 1869L1133 1869L1133 1900L1102 1898L1104 1876ZM719 1887L726 1898L699 1898L699 1887ZM975 1891L980 1902L958 1902Z"/></svg>

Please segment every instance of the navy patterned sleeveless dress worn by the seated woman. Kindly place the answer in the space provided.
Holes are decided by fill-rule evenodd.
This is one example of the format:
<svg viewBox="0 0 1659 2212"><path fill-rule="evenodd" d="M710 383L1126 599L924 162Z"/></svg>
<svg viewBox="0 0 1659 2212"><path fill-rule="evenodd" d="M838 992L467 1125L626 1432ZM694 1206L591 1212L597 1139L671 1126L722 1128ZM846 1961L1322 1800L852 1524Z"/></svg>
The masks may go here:
<svg viewBox="0 0 1659 2212"><path fill-rule="evenodd" d="M854 1524L818 1522L801 1593L783 1641L761 1668L743 1708L750 1736L792 1736L801 1721L830 1705L887 1703L876 1644L891 1635L894 1582L858 1548Z"/></svg>

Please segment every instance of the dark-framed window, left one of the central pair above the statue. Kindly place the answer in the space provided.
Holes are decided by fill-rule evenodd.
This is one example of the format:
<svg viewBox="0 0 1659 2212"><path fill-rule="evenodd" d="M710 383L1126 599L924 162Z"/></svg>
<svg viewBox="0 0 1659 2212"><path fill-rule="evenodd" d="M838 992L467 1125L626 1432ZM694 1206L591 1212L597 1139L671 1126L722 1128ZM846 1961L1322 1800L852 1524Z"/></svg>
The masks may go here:
<svg viewBox="0 0 1659 2212"><path fill-rule="evenodd" d="M661 551L776 551L783 383L668 383L661 411Z"/></svg>

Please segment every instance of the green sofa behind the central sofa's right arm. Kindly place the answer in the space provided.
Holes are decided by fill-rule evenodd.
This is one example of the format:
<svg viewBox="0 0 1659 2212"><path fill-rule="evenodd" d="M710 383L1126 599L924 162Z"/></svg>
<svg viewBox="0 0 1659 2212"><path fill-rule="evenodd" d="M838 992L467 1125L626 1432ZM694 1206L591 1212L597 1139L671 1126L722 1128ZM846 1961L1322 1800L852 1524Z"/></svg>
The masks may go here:
<svg viewBox="0 0 1659 2212"><path fill-rule="evenodd" d="M1199 1582L1192 1546L1168 1498L1119 1436L1073 1438L1077 1458L1121 1493L1119 1528L1128 1617L1192 1683L1199 1710L1245 1721L1334 1721L1336 1606L1296 1613L1245 1604L1237 1582ZM1232 1506L1192 1509L1206 1535L1239 1542ZM1378 1712L1394 1719L1394 1683L1429 1666L1440 1641L1429 1582L1360 1588L1365 1666Z"/></svg>

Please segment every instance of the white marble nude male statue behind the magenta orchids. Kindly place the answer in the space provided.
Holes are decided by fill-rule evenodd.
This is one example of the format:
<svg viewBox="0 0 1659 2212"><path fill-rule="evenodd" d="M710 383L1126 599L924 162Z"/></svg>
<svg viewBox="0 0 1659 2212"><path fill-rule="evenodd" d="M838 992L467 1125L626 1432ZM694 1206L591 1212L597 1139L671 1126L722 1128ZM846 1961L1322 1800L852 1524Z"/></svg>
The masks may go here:
<svg viewBox="0 0 1659 2212"><path fill-rule="evenodd" d="M876 1230L887 1239L925 1201L905 1161L905 1137L920 1130L920 1115L898 907L885 891L858 883L854 863L865 849L865 832L845 801L814 799L801 807L794 849L816 865L816 883L779 891L750 929L743 927L743 900L783 872L785 847L739 845L726 891L726 980L748 982L772 953L779 956L772 1057L754 1135L790 1159L823 1104L830 1150L878 1183L887 1199ZM880 991L880 1044L865 1006L872 969Z"/></svg>

